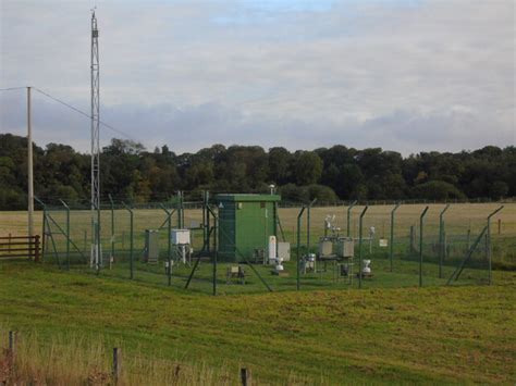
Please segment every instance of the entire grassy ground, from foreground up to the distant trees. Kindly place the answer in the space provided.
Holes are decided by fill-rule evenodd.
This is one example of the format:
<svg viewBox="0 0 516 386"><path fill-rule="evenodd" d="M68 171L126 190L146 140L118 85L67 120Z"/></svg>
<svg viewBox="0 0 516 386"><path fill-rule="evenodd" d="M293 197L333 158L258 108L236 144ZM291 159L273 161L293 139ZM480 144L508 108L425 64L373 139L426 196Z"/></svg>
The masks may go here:
<svg viewBox="0 0 516 386"><path fill-rule="evenodd" d="M439 278L432 248L444 206L431 204L425 227L425 287L417 288L419 265L417 257L408 256L407 242L409 228L418 227L423 208L398 209L394 272L390 272L385 249L373 246L369 252L365 244L374 276L363 281L361 290L356 278L352 284L335 281L330 265L327 272L303 275L302 291L295 291L294 254L285 263L290 277L273 276L270 267L255 265L273 294L267 292L250 267L246 267L245 286L226 284L228 264L219 264L218 294L228 297L207 296L212 288L208 261L201 261L188 290L183 289L188 267L175 269L167 287L161 264L138 261L144 231L158 228L165 219L161 210L138 209L134 281L127 279L124 259L99 276L85 266L59 271L52 254L50 264L0 262L0 334L5 340L5 332L16 329L25 339L16 363L19 381L44 378L48 384L86 384L91 374L102 377L109 373L114 346L124 350L126 384L234 385L241 366L250 368L258 384L514 384L516 204L506 204L492 220L493 266L505 270L493 272L495 285L476 285L487 283L486 266L467 266L457 285L447 287L443 285L459 260L451 259ZM454 204L446 212L446 233L456 259L464 256L468 229L476 237L496 208L494 203ZM353 236L361 209L353 210ZM312 248L327 214L335 214L335 225L345 233L346 210L312 209ZM378 238L389 238L391 210L391 206L370 207L365 228L374 226ZM292 244L298 211L280 210ZM122 256L128 246L128 213L116 210L114 214L113 240ZM51 215L64 225L64 212ZM200 223L200 210L185 211L187 225ZM40 229L40 212L36 220ZM71 222L72 238L87 256L89 212L72 211ZM109 248L109 211L102 212L102 224L105 248ZM9 233L26 234L26 212L0 212L0 234ZM200 236L195 236L196 248ZM64 238L57 236L56 241L62 253ZM161 242L165 245L163 238ZM484 262L483 257L479 252L478 261ZM170 370L177 366L181 373Z"/></svg>

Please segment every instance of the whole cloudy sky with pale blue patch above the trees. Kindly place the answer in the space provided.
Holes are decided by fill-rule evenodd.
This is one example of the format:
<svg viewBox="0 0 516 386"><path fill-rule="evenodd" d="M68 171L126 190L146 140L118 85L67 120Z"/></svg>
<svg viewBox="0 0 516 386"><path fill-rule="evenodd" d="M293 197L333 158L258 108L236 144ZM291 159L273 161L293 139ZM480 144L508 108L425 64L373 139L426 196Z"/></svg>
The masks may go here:
<svg viewBox="0 0 516 386"><path fill-rule="evenodd" d="M0 0L0 89L88 112L90 17L101 146L213 144L404 155L516 145L515 1ZM25 135L25 90L0 132ZM33 92L39 146L88 151L90 123Z"/></svg>

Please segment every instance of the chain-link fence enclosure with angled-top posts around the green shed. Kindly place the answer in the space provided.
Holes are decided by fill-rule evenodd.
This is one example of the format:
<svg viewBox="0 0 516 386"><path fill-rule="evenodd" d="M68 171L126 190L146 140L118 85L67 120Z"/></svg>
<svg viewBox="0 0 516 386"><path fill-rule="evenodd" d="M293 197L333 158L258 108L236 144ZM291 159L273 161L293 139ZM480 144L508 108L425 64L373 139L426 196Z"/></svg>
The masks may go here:
<svg viewBox="0 0 516 386"><path fill-rule="evenodd" d="M496 212L495 203L282 208L273 196L186 197L102 204L98 269L90 211L41 202L44 261L205 294L478 285L493 269L516 269L514 203Z"/></svg>

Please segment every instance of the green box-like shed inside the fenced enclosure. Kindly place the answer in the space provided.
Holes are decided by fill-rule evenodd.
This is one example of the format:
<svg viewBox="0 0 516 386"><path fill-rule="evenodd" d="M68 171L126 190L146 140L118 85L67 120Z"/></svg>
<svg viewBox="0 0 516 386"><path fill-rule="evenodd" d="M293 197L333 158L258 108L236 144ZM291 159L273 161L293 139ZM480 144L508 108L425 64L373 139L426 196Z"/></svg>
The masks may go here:
<svg viewBox="0 0 516 386"><path fill-rule="evenodd" d="M269 236L277 236L277 195L217 195L219 207L219 258L250 259L256 249L267 253ZM239 252L239 253L238 253Z"/></svg>

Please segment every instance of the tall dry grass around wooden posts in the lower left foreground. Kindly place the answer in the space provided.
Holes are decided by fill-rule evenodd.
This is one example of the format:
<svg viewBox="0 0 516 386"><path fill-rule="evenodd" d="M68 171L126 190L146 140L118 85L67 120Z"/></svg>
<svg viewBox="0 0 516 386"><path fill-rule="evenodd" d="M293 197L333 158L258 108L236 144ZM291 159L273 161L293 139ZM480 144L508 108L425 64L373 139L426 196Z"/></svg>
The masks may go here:
<svg viewBox="0 0 516 386"><path fill-rule="evenodd" d="M4 328L0 334L8 336ZM112 385L111 356L112 350L99 339L62 335L45 340L36 333L17 334L14 353L2 350L0 384ZM202 362L181 363L122 351L122 373L116 384L234 385L237 379L236 366L214 369Z"/></svg>

